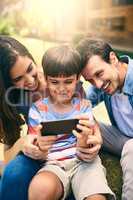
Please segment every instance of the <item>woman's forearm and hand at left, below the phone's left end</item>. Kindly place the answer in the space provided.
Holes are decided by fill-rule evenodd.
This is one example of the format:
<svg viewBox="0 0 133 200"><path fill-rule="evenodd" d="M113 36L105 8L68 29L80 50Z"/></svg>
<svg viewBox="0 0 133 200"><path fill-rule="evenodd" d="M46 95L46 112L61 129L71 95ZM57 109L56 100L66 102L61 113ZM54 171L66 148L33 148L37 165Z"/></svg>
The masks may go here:
<svg viewBox="0 0 133 200"><path fill-rule="evenodd" d="M40 136L43 144L45 143L45 148L41 150L35 143L37 140L37 135L26 135L19 138L12 147L4 145L4 158L5 163L12 160L20 151L22 151L26 156L35 160L46 160L48 150L50 146L56 141L56 136Z"/></svg>

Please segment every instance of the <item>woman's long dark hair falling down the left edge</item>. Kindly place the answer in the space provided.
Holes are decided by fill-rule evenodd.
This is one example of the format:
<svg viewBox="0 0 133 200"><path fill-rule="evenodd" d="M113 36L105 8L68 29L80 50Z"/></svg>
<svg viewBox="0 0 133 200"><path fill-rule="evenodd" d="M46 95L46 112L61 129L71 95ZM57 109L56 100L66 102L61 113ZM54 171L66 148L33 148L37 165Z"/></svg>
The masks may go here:
<svg viewBox="0 0 133 200"><path fill-rule="evenodd" d="M18 56L28 56L31 54L16 39L8 36L0 36L0 142L12 146L20 137L21 125L24 120L18 113L16 106L11 106L6 101L6 92L13 86L10 78L10 70L17 61ZM10 101L16 102L19 91L14 90L10 96Z"/></svg>

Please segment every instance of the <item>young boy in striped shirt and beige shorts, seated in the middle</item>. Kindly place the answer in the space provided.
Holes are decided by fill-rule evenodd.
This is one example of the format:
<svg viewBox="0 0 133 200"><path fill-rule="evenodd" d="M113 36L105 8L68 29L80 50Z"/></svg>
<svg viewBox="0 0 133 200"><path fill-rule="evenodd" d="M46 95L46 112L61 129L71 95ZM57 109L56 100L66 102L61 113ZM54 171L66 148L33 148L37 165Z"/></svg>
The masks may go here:
<svg viewBox="0 0 133 200"><path fill-rule="evenodd" d="M90 106L82 106L81 98L75 94L81 71L77 51L66 45L51 48L45 53L42 65L49 96L31 107L29 133L39 134L38 125L44 121L71 119L79 114L92 116ZM84 139L85 127L78 124L77 128ZM42 136L38 136L37 142L44 151L47 144L42 142ZM57 141L49 148L44 167L30 184L29 200L65 199L70 185L77 200L115 199L107 185L100 158L97 156L88 163L81 161L76 155L76 143L71 133L57 136Z"/></svg>

